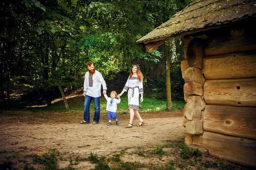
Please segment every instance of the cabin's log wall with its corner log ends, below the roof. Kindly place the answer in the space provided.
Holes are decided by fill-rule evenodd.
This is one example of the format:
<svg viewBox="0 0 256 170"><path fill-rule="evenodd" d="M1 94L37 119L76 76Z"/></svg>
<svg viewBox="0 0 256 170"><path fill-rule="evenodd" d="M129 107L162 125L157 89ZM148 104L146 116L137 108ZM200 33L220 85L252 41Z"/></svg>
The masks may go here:
<svg viewBox="0 0 256 170"><path fill-rule="evenodd" d="M256 33L227 27L201 34L204 40L184 37L185 144L256 167Z"/></svg>

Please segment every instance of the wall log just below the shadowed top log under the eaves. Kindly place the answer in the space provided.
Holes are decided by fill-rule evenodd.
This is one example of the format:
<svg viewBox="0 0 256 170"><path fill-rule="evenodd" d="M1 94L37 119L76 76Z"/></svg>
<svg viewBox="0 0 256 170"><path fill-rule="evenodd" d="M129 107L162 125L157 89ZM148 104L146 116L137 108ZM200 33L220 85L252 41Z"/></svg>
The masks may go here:
<svg viewBox="0 0 256 170"><path fill-rule="evenodd" d="M209 79L256 77L256 51L204 57L202 73Z"/></svg>

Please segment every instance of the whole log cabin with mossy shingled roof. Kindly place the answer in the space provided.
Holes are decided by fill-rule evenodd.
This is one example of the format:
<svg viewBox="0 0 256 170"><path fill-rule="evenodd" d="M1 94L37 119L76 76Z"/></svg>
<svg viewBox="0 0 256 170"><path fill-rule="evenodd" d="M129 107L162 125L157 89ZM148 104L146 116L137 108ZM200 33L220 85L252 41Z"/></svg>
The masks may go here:
<svg viewBox="0 0 256 170"><path fill-rule="evenodd" d="M185 144L256 167L256 0L195 0L137 40L183 37Z"/></svg>

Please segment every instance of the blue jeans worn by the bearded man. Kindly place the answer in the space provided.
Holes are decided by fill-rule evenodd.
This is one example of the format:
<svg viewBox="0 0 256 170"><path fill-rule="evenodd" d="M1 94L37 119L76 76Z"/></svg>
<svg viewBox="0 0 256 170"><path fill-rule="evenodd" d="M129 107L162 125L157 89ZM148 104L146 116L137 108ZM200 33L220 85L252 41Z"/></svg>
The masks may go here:
<svg viewBox="0 0 256 170"><path fill-rule="evenodd" d="M84 99L84 121L90 122L90 102L92 101L92 99L95 105L93 122L99 122L99 114L100 114L99 97L91 97L87 95L85 95L85 99Z"/></svg>

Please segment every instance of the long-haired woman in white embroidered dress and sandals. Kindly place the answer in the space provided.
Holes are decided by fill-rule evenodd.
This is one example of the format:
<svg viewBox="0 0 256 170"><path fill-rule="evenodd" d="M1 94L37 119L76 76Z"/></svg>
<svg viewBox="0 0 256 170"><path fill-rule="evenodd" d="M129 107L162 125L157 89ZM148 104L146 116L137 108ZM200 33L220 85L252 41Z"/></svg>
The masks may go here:
<svg viewBox="0 0 256 170"><path fill-rule="evenodd" d="M140 102L143 102L143 74L140 71L140 66L138 64L133 65L130 76L125 83L125 87L123 88L122 92L118 94L118 97L122 96L122 94L127 91L128 89L128 105L130 110L130 122L126 126L127 128L133 127L132 121L135 116L140 120L140 123L137 126L142 126L145 123L143 122L143 119L141 119L140 114L138 112L139 110L139 96Z"/></svg>

